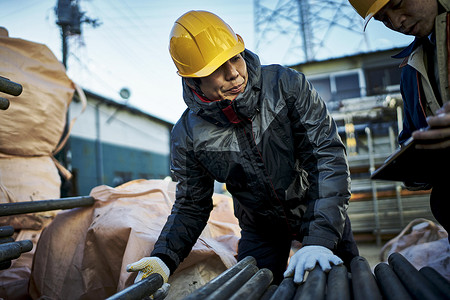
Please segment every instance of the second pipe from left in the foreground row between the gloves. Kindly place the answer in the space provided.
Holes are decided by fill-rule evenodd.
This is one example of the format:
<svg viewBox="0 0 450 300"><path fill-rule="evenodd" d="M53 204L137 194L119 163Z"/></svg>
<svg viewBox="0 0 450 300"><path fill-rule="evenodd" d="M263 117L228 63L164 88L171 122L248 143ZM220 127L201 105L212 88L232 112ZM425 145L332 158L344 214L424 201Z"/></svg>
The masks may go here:
<svg viewBox="0 0 450 300"><path fill-rule="evenodd" d="M237 290L239 290L253 275L258 272L258 267L252 264L245 266L233 278L225 282L212 294L206 297L206 300L225 300L229 299Z"/></svg>

